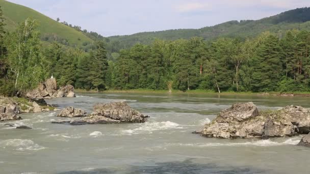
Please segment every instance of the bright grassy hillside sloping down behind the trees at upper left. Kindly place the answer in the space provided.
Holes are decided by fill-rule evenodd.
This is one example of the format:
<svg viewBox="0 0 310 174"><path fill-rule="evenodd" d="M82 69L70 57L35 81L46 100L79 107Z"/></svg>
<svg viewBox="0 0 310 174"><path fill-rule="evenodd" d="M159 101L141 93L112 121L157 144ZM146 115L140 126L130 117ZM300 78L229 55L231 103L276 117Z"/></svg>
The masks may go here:
<svg viewBox="0 0 310 174"><path fill-rule="evenodd" d="M76 31L28 7L10 3L5 0L0 0L0 6L6 18L6 28L9 32L14 30L18 23L31 17L39 22L41 34L54 33L61 38L67 39L71 46L81 46L83 42L93 42L93 40L85 36L82 32ZM80 40L78 40L79 38Z"/></svg>

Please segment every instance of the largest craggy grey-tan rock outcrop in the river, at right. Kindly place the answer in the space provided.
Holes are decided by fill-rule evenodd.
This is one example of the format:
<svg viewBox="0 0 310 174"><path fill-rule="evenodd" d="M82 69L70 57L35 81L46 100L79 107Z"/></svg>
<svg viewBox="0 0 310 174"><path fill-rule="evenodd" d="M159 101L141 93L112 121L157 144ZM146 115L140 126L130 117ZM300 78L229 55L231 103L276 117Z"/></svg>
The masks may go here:
<svg viewBox="0 0 310 174"><path fill-rule="evenodd" d="M309 132L309 109L292 105L259 112L252 102L248 102L233 104L206 124L203 130L194 133L217 138L269 138Z"/></svg>

